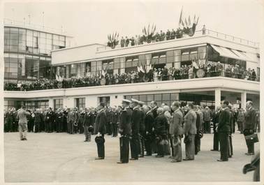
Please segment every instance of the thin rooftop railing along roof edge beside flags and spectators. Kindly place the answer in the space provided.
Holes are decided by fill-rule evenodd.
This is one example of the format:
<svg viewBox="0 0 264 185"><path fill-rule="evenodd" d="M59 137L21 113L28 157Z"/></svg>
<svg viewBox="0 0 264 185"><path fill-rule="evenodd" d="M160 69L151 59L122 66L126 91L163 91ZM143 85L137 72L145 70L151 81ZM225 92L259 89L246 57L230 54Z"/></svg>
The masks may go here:
<svg viewBox="0 0 264 185"><path fill-rule="evenodd" d="M249 45L251 47L259 47L259 43L256 43L256 42L253 42L251 40L246 40L246 39L243 39L243 38L239 38L239 37L236 37L236 36L231 36L231 35L228 35L228 34L222 34L218 31L213 31L211 29L205 29L205 30L198 30L195 32L195 34L193 35L193 37L198 37L198 36L213 36L213 37L216 37L216 38L221 38L223 40L229 40L229 41L233 41L235 43L240 43L240 44L243 44L243 45ZM184 39L184 38L190 38L189 36L187 36L186 34L183 34L183 37L182 38L175 38L175 39L170 39L170 40L181 40L181 39ZM168 40L165 40L164 41L159 41L158 43L160 42L166 42ZM156 43L155 41L152 42L152 43ZM143 43L141 45L149 45L150 43ZM115 46L115 49L112 49L111 47L108 47L106 46L107 43L105 43L105 46L101 46L101 47L97 47L97 52L102 52L102 51L105 51L105 50L115 50L115 49L118 49L118 48L127 48L127 47L121 47L121 44L120 44L120 40L119 40L119 44ZM129 46L128 47L136 47L138 45L133 45L131 46L131 43L129 43Z"/></svg>

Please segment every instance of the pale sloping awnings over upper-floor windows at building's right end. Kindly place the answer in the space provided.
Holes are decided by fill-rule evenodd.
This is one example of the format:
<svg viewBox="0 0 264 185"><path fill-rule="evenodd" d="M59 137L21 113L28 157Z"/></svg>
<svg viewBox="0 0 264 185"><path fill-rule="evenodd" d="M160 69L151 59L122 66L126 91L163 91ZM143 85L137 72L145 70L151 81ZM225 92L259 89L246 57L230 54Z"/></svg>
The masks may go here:
<svg viewBox="0 0 264 185"><path fill-rule="evenodd" d="M211 45L214 50L216 50L220 56L228 57L231 59L237 59L242 61L257 61L255 54L248 52L240 52L233 49L228 49L226 47L221 47L217 45Z"/></svg>

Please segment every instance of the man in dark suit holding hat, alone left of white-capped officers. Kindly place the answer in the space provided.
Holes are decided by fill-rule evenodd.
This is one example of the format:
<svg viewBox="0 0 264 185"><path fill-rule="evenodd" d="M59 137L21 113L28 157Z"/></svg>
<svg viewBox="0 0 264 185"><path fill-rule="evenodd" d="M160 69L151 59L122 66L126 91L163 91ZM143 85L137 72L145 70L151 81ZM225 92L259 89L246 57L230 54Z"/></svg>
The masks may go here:
<svg viewBox="0 0 264 185"><path fill-rule="evenodd" d="M105 103L100 103L98 106L98 114L96 115L96 123L95 123L95 133L96 138L100 138L103 140L101 142L96 142L97 145L97 152L98 152L98 158L95 158L96 160L104 159L105 158L105 143L104 143L104 135L106 133L106 124L107 118L105 113Z"/></svg>

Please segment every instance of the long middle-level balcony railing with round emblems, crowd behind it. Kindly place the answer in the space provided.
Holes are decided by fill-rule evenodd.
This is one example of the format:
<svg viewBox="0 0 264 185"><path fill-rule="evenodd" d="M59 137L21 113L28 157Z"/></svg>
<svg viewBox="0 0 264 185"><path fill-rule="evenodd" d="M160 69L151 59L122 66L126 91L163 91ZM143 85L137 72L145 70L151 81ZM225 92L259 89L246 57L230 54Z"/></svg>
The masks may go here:
<svg viewBox="0 0 264 185"><path fill-rule="evenodd" d="M210 73L205 73L204 77L230 77L237 78L240 80L250 80L258 81L256 76L235 74L225 71L211 71ZM199 78L195 73L184 73L179 75L168 75L162 77L147 78L147 75L140 77L140 75L119 75L115 77L82 77L82 78L71 78L59 82L58 80L36 80L36 82L31 82L27 84L13 84L6 83L4 85L4 90L6 91L35 91L43 89L67 89L76 87L94 87L100 85L114 85L114 84L134 84L142 82L161 82L161 81L177 81Z"/></svg>

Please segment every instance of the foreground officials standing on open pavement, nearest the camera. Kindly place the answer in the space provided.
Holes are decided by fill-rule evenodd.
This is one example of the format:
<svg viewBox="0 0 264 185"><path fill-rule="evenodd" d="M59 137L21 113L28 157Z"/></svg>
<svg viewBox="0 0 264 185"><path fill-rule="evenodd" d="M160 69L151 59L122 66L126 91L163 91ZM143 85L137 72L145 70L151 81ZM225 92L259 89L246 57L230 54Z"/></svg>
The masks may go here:
<svg viewBox="0 0 264 185"><path fill-rule="evenodd" d="M96 117L96 144L98 158L105 158L106 113L104 105L99 106L100 113ZM232 145L232 107L228 101L222 101L221 107L217 108L214 119L214 149L220 151L221 156L217 161L228 161L233 155ZM120 161L117 163L129 163L129 148L131 149L130 160L138 160L139 157L152 156L163 157L171 154L171 162L182 161L182 140L185 143L186 157L183 161L194 160L194 156L200 151L200 139L203 138L202 119L200 107L188 103L184 108L175 101L169 108L162 105L158 108L155 101L150 106L143 102L131 99L122 101L122 111L119 114L119 147ZM256 124L256 110L252 102L247 102L245 112L244 135L254 133ZM129 146L130 145L130 146ZM254 154L254 144L247 142L247 155Z"/></svg>

